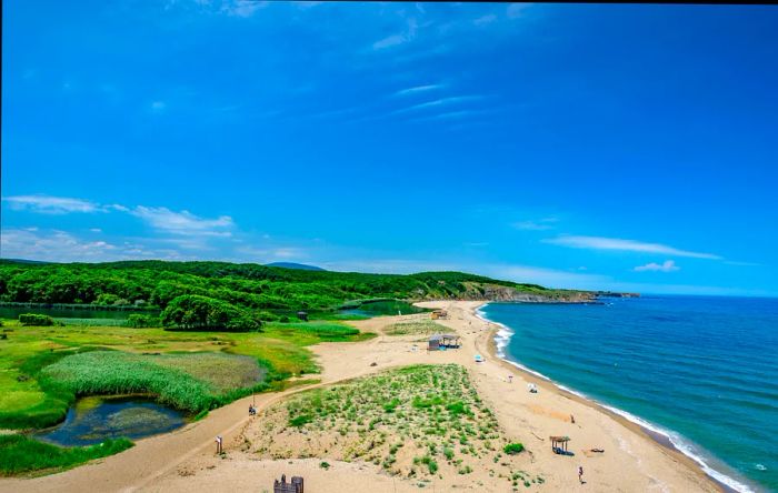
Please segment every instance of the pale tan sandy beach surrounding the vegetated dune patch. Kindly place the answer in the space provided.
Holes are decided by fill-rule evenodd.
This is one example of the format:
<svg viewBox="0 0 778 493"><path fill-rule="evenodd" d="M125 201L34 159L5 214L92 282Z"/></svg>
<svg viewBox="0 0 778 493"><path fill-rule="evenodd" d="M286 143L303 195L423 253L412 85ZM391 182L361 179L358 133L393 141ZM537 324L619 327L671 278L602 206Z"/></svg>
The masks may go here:
<svg viewBox="0 0 778 493"><path fill-rule="evenodd" d="M415 363L457 363L465 366L480 398L495 412L508 436L525 444L521 466L545 477L537 491L665 491L714 492L720 487L682 454L660 445L639 426L565 392L500 360L493 335L498 329L476 315L482 302L429 302L443 308L449 318L439 321L462 338L459 350L427 352L419 335L387 335L388 325L412 316L389 316L355 322L379 335L359 343L325 343L312 348L322 366L321 383L328 385ZM418 350L413 350L413 346ZM477 363L475 355L486 361ZM375 363L375 365L373 365ZM511 379L509 379L511 375ZM535 383L539 392L528 392ZM177 432L141 440L121 454L71 471L31 480L0 480L0 491L272 491L282 473L301 475L307 492L340 492L369 485L372 492L418 491L415 482L388 475L373 464L339 462L327 456L300 460L259 460L245 443L261 432L262 410L289 394L309 388L256 398L258 417L249 417L242 399L212 412ZM571 422L575 416L575 423ZM225 437L226 455L215 454L213 439ZM575 456L551 451L549 435L569 436ZM602 449L604 453L591 453ZM331 465L320 467L321 460ZM579 483L578 467L585 483ZM433 491L511 491L486 471L466 477L432 481ZM523 489L521 486L520 489Z"/></svg>

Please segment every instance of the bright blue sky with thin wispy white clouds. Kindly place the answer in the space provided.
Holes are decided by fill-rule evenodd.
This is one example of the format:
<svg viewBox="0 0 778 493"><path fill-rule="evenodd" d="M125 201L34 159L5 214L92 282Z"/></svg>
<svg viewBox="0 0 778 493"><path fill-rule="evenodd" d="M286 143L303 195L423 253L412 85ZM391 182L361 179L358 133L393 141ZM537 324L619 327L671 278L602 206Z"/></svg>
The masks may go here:
<svg viewBox="0 0 778 493"><path fill-rule="evenodd" d="M778 9L7 1L4 258L776 295Z"/></svg>

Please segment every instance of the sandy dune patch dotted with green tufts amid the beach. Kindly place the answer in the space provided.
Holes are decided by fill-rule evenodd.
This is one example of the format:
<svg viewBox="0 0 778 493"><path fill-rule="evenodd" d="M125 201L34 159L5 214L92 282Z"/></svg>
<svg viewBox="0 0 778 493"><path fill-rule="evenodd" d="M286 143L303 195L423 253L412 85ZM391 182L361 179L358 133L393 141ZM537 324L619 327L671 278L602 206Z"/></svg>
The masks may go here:
<svg viewBox="0 0 778 493"><path fill-rule="evenodd" d="M459 365L415 365L295 395L247 436L261 457L370 462L419 481L488 471L507 489L542 483Z"/></svg>

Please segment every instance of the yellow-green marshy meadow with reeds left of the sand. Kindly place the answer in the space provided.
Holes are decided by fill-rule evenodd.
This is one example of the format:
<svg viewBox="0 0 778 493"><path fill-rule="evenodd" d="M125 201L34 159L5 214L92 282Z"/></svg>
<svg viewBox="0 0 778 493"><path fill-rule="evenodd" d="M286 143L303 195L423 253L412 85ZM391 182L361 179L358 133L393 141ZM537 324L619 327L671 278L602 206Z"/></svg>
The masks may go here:
<svg viewBox="0 0 778 493"><path fill-rule="evenodd" d="M371 336L336 321L270 323L262 333L13 321L0 331L0 429L56 424L78 395L88 394L151 393L194 413L291 375L317 373L311 344Z"/></svg>

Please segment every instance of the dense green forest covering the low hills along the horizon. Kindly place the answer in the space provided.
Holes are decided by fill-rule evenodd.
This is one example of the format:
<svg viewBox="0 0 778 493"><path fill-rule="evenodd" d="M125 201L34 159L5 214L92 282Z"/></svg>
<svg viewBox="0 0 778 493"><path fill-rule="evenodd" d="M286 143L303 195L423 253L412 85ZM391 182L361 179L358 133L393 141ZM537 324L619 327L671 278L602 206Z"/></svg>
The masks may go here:
<svg viewBox="0 0 778 493"><path fill-rule="evenodd" d="M298 310L327 312L375 299L485 299L487 288L566 299L551 290L461 272L366 274L296 270L251 263L126 261L27 263L0 261L0 301L132 305L164 310L180 296L202 296L277 320ZM179 300L190 304L202 298ZM223 303L220 306L226 308ZM227 309L227 308L226 308ZM265 311L262 313L262 311Z"/></svg>

